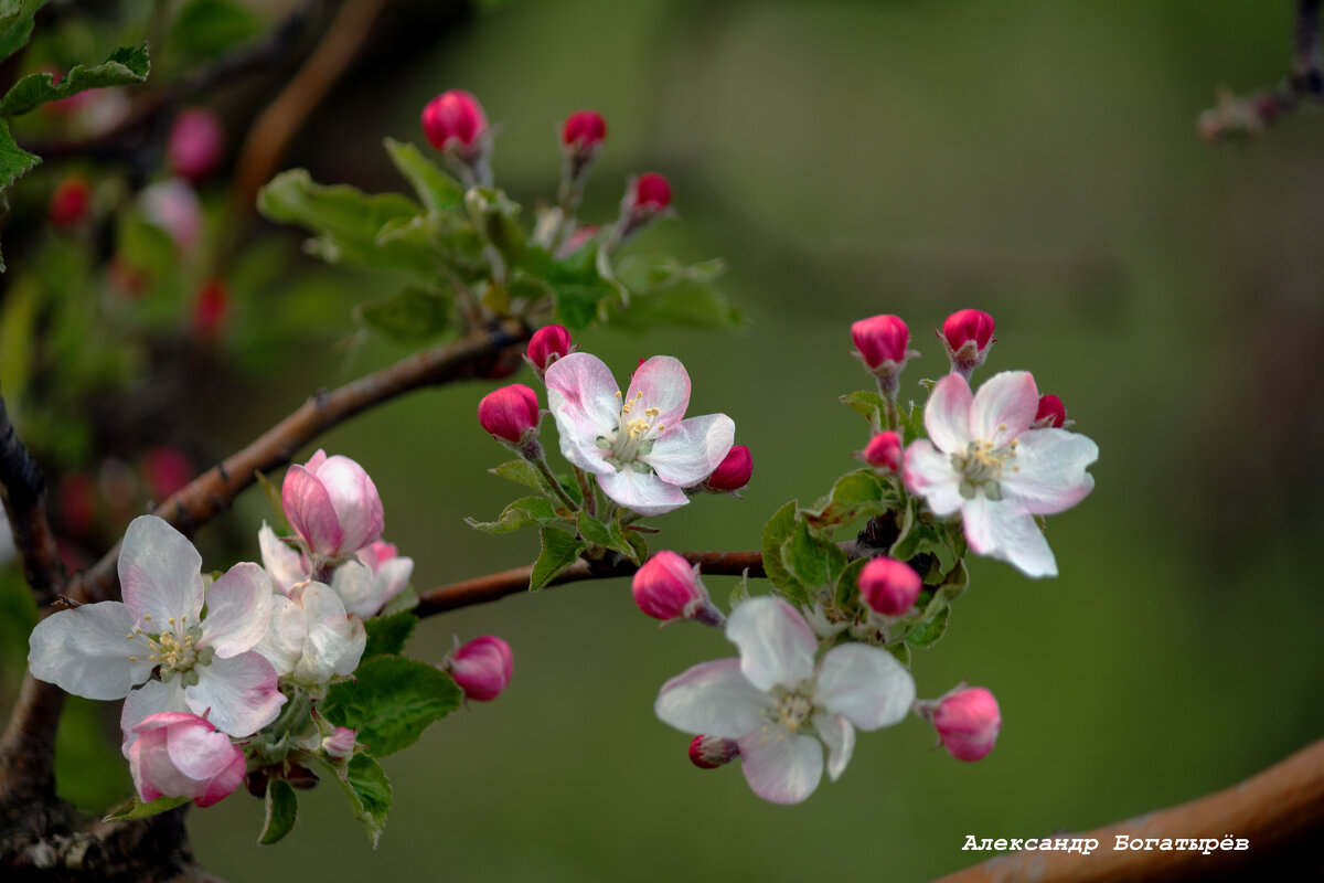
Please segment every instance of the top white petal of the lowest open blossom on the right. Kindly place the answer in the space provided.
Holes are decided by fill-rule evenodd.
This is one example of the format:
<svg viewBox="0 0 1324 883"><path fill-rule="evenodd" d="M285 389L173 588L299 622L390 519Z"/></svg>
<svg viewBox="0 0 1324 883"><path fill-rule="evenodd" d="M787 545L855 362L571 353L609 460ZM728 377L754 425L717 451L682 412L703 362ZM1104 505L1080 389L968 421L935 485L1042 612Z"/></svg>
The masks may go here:
<svg viewBox="0 0 1324 883"><path fill-rule="evenodd" d="M727 620L727 639L740 647L740 670L759 690L794 687L814 673L818 639L800 613L769 594L741 604Z"/></svg>

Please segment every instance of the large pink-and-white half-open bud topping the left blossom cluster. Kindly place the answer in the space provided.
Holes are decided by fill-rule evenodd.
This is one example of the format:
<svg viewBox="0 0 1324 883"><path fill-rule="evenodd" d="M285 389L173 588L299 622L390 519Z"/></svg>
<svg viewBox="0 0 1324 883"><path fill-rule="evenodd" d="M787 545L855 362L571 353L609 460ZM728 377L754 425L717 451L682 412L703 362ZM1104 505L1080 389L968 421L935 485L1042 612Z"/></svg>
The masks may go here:
<svg viewBox="0 0 1324 883"><path fill-rule="evenodd" d="M308 553L332 560L354 555L381 536L381 496L363 466L319 450L303 466L290 466L281 506Z"/></svg>

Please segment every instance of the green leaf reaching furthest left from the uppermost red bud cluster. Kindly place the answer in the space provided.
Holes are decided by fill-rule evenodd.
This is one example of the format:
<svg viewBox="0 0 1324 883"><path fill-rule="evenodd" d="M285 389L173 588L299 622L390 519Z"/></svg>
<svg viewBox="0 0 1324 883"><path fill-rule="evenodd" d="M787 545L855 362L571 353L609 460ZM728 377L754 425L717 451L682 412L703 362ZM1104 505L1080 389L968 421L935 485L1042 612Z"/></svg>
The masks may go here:
<svg viewBox="0 0 1324 883"><path fill-rule="evenodd" d="M308 250L327 263L402 270L429 282L440 259L426 241L385 237L389 222L409 222L422 210L400 193L368 195L347 184L323 187L302 168L281 172L257 196L258 210L273 221L299 224L318 233Z"/></svg>

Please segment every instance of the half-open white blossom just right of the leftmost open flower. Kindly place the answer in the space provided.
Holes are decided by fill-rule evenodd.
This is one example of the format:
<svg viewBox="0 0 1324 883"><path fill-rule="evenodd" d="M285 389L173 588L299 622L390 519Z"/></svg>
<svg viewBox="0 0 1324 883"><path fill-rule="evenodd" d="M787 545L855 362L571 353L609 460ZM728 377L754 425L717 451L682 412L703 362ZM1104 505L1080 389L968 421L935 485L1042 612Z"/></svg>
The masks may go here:
<svg viewBox="0 0 1324 883"><path fill-rule="evenodd" d="M361 565L360 565L361 567ZM271 596L270 627L256 650L277 674L318 690L359 667L368 633L331 586L301 582L289 596Z"/></svg>

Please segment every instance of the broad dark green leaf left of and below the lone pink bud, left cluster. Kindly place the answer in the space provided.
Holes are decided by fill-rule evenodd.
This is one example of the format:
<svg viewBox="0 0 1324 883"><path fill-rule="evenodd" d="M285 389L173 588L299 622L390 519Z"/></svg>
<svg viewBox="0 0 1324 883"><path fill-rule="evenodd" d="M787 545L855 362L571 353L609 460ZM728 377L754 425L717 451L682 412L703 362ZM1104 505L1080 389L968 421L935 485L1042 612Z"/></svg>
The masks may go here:
<svg viewBox="0 0 1324 883"><path fill-rule="evenodd" d="M322 714L357 731L373 757L387 757L418 741L434 720L459 707L455 682L436 666L404 657L361 662L354 680L331 684Z"/></svg>

